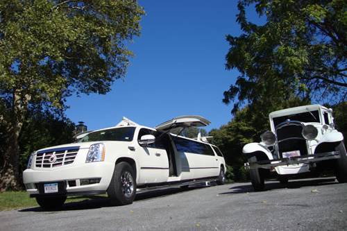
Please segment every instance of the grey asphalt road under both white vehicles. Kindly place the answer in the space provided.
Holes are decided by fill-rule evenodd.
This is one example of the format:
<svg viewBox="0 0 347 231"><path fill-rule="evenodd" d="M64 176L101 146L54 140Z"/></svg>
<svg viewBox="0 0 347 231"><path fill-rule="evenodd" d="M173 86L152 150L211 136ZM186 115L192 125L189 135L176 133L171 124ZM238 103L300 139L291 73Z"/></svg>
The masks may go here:
<svg viewBox="0 0 347 231"><path fill-rule="evenodd" d="M347 230L347 183L334 178L142 193L132 205L106 198L0 212L0 230Z"/></svg>

